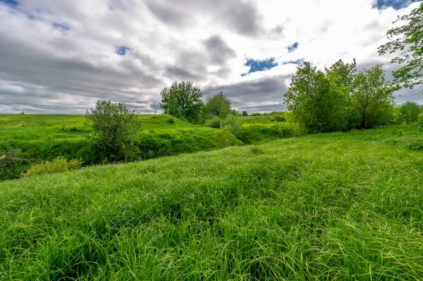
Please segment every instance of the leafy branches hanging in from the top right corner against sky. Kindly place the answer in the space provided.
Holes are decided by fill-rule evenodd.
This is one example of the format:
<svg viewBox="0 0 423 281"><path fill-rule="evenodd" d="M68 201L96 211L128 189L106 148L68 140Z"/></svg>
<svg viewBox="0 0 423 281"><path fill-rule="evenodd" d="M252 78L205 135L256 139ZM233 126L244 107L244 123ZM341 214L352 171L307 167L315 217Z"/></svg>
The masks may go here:
<svg viewBox="0 0 423 281"><path fill-rule="evenodd" d="M396 22L405 25L388 30L389 42L379 46L379 55L399 51L391 60L391 63L403 65L393 71L394 82L411 89L423 83L423 3L410 14L398 17Z"/></svg>

